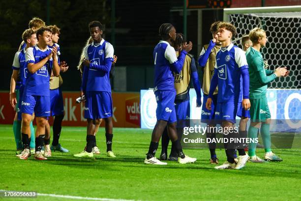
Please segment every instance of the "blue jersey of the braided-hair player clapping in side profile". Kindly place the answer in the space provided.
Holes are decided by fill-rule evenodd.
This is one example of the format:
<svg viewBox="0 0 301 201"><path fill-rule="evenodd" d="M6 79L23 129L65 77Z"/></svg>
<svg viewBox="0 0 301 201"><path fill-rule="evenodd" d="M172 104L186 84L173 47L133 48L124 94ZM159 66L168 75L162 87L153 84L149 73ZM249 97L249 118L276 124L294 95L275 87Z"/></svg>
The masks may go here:
<svg viewBox="0 0 301 201"><path fill-rule="evenodd" d="M173 72L181 72L186 54L185 51L181 51L178 62L175 49L167 41L159 41L153 50L154 91L175 90L175 77Z"/></svg>

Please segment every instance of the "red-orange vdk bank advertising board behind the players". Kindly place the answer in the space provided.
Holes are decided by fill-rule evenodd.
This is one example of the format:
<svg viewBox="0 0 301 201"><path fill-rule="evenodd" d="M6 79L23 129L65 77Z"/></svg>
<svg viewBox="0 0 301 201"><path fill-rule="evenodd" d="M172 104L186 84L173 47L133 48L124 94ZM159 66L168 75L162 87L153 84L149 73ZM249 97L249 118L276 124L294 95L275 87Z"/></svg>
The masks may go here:
<svg viewBox="0 0 301 201"><path fill-rule="evenodd" d="M86 126L85 103L75 103L79 93L63 92L65 116L63 126ZM112 93L113 126L140 128L140 93ZM9 93L0 92L0 124L12 124L15 111L9 103ZM53 119L49 119L52 125ZM102 126L104 123L102 123Z"/></svg>

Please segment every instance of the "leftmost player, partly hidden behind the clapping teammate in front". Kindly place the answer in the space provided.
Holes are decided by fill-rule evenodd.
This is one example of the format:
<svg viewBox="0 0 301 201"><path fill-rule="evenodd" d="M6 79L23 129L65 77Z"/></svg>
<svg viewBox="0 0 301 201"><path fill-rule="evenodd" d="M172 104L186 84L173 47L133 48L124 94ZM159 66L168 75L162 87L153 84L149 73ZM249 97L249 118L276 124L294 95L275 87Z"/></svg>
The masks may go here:
<svg viewBox="0 0 301 201"><path fill-rule="evenodd" d="M22 34L22 39L25 42L24 44L26 44L26 47L24 49L18 51L15 54L14 62L12 65L13 73L11 76L10 93L9 93L10 104L13 107L15 107L15 106L17 107L17 119L14 120L14 124L13 124L15 141L16 141L16 145L17 145L17 151L16 151L17 155L19 155L23 150L22 139L21 139L22 113L20 112L20 108L21 108L24 85L26 83L26 79L27 79L27 75L28 75L27 63L26 63L26 59L25 59L25 52L26 52L27 48L32 47L32 46L36 45L36 43L37 43L35 31L33 31L32 29L25 30ZM18 74L20 75L20 88L19 88L19 97L20 98L18 98L16 95L17 94L16 93L16 89L17 89L16 83L17 83L17 79L18 79ZM34 134L34 132L32 132L31 129L33 130L32 121L30 121L30 133ZM32 137L30 140L30 151L33 150L33 153L34 153L34 147L35 147L34 137Z"/></svg>

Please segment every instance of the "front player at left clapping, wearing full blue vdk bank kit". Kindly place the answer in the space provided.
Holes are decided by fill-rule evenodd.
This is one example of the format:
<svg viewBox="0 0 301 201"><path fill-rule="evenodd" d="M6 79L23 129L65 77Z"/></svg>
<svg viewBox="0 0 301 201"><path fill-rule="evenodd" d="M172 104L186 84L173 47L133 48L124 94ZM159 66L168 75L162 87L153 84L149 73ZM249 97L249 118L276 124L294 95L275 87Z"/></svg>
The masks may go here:
<svg viewBox="0 0 301 201"><path fill-rule="evenodd" d="M49 79L51 70L59 76L60 67L57 59L57 47L52 50L47 46L51 42L51 30L41 27L36 31L38 44L26 50L28 78L24 87L21 103L22 112L22 142L24 150L20 159L30 157L30 121L32 113L36 117L35 153L37 160L47 160L41 153L45 137L45 125L50 115Z"/></svg>

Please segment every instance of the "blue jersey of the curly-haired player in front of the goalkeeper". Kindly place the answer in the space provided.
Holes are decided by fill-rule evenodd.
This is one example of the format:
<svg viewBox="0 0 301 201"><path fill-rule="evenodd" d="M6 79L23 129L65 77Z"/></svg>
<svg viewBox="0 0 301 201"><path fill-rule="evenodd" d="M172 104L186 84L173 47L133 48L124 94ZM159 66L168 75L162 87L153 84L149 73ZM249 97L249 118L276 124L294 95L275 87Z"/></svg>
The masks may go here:
<svg viewBox="0 0 301 201"><path fill-rule="evenodd" d="M248 68L245 53L233 43L228 47L222 47L216 54L214 68L218 72L217 102L241 102L241 69Z"/></svg>

